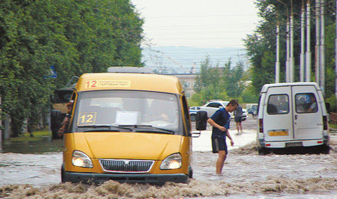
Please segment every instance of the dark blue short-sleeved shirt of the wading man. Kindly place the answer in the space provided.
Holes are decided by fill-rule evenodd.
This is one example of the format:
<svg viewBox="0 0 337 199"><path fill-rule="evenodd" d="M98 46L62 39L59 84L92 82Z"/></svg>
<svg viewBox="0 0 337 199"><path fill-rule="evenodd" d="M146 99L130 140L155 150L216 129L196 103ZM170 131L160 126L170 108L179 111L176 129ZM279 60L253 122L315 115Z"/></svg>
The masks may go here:
<svg viewBox="0 0 337 199"><path fill-rule="evenodd" d="M231 115L224 108L220 108L217 110L212 116L211 119L216 124L219 124L221 127L225 127L229 129L229 123L231 122ZM212 137L221 137L226 134L226 131L221 131L220 129L213 127L212 129Z"/></svg>

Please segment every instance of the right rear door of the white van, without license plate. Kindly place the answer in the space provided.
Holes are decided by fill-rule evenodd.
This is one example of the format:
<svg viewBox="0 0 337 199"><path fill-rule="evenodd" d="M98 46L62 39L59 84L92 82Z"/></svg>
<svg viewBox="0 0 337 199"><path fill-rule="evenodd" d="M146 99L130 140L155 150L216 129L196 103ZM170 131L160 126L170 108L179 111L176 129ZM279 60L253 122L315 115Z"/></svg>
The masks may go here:
<svg viewBox="0 0 337 199"><path fill-rule="evenodd" d="M314 99L311 101L311 97ZM305 101L304 99L305 98ZM293 86L294 139L321 139L323 136L322 110L314 86ZM310 109L316 101L316 109ZM303 102L306 105L303 105Z"/></svg>

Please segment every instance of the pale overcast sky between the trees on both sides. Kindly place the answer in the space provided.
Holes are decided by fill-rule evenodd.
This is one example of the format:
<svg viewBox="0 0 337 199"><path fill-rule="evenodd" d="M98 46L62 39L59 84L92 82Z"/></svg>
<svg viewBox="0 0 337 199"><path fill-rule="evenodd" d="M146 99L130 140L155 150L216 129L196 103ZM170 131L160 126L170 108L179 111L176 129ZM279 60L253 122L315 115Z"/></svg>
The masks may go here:
<svg viewBox="0 0 337 199"><path fill-rule="evenodd" d="M243 48L258 24L254 0L131 0L153 46ZM147 41L148 42L148 41Z"/></svg>

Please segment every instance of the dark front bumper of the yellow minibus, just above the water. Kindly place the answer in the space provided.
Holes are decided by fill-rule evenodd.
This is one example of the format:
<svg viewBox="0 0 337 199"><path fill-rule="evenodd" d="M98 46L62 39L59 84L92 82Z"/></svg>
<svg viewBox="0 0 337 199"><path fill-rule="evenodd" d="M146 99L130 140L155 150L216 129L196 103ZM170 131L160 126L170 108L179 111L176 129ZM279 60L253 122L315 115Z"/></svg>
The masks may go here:
<svg viewBox="0 0 337 199"><path fill-rule="evenodd" d="M167 181L174 183L187 183L188 176L178 174L112 174L112 173L63 173L65 182L101 184L105 181L118 181L120 183L149 183L165 184Z"/></svg>

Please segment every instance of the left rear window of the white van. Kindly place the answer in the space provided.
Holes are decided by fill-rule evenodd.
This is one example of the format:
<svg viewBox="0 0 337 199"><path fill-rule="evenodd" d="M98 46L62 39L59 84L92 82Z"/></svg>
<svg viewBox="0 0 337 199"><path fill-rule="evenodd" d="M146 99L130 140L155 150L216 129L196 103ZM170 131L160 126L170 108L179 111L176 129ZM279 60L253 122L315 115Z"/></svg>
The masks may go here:
<svg viewBox="0 0 337 199"><path fill-rule="evenodd" d="M267 114L287 114L288 112L288 95L270 95L267 103Z"/></svg>

